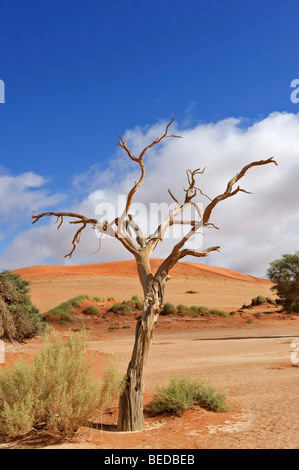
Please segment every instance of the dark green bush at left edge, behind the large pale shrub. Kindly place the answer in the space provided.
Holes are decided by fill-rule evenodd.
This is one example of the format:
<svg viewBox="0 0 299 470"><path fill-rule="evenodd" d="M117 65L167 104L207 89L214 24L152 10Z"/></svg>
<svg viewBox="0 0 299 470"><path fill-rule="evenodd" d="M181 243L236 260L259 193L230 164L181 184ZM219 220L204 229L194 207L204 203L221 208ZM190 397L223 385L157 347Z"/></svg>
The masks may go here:
<svg viewBox="0 0 299 470"><path fill-rule="evenodd" d="M0 274L0 339L24 341L44 330L39 310L31 302L29 285L19 274Z"/></svg>

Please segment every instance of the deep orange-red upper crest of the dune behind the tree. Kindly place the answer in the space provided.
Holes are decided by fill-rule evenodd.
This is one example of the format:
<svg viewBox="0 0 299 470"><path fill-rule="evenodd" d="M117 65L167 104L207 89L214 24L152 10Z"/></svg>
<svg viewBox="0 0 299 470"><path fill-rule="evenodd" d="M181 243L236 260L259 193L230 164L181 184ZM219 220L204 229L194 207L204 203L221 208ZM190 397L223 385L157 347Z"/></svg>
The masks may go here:
<svg viewBox="0 0 299 470"><path fill-rule="evenodd" d="M151 259L151 267L155 272L161 264L161 259ZM78 266L32 266L30 268L16 269L15 273L20 274L28 280L55 279L62 276L118 276L137 277L136 263L130 261L116 261L111 263L87 264ZM171 270L170 275L174 279L179 278L230 278L239 281L247 281L260 284L271 284L266 279L261 279L247 274L226 268L217 268L201 263L180 262Z"/></svg>

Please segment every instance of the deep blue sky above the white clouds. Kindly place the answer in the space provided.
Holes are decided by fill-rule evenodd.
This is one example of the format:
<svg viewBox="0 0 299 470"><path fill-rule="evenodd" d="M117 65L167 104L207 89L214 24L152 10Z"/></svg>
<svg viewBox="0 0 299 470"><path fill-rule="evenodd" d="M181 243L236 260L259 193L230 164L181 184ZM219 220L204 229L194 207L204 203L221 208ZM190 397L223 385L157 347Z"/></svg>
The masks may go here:
<svg viewBox="0 0 299 470"><path fill-rule="evenodd" d="M31 172L32 210L69 207L91 189L78 177L109 168L116 132L171 113L181 130L296 115L298 16L295 0L0 0L3 175L12 187ZM0 253L30 228L30 217L3 217Z"/></svg>

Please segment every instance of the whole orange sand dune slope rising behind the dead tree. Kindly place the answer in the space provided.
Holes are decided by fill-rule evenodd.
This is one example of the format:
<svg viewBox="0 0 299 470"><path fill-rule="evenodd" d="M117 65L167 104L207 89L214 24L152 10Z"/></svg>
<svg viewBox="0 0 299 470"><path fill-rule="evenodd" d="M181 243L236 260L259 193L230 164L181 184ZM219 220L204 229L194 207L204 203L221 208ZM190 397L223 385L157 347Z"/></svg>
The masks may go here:
<svg viewBox="0 0 299 470"><path fill-rule="evenodd" d="M153 259L153 271L161 260ZM35 266L18 269L31 281L33 302L45 312L79 294L127 300L143 295L134 261L86 266ZM170 272L165 301L175 305L204 305L224 311L236 310L252 297L273 297L271 282L225 268L200 263L178 263ZM197 291L187 294L188 290Z"/></svg>

